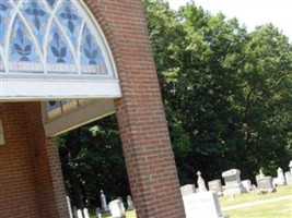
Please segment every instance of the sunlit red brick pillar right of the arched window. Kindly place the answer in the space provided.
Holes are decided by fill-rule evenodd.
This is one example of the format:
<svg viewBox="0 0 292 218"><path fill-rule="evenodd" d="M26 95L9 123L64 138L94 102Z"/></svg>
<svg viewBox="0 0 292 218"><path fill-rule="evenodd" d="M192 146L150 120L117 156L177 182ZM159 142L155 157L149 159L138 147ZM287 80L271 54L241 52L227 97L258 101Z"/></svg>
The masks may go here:
<svg viewBox="0 0 292 218"><path fill-rule="evenodd" d="M185 217L141 1L84 2L117 65L122 98L116 110L138 217Z"/></svg>

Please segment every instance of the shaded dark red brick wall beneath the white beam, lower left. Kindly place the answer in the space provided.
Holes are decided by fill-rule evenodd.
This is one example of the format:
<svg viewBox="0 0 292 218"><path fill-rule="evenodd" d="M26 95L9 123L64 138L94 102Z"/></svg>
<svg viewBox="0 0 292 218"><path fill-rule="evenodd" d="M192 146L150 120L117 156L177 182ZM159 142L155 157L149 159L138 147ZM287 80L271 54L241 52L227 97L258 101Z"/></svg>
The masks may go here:
<svg viewBox="0 0 292 218"><path fill-rule="evenodd" d="M45 138L40 104L0 104L0 217L68 217L58 149Z"/></svg>

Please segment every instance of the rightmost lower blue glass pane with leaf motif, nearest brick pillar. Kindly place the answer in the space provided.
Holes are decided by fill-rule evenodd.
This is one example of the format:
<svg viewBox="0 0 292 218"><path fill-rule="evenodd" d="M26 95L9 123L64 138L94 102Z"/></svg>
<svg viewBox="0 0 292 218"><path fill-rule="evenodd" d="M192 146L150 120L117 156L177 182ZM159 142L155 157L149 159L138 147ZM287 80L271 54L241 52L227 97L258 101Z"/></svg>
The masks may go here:
<svg viewBox="0 0 292 218"><path fill-rule="evenodd" d="M86 26L82 34L81 64L104 65L101 48Z"/></svg>

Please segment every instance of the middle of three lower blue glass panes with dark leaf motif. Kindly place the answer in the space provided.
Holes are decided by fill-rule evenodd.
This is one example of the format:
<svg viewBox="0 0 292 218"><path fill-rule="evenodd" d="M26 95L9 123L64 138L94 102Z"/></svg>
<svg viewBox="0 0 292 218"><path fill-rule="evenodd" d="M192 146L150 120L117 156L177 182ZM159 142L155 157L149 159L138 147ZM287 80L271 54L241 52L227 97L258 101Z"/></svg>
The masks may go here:
<svg viewBox="0 0 292 218"><path fill-rule="evenodd" d="M72 55L68 45L65 43L63 36L56 24L50 29L50 40L48 47L48 63L73 63Z"/></svg>

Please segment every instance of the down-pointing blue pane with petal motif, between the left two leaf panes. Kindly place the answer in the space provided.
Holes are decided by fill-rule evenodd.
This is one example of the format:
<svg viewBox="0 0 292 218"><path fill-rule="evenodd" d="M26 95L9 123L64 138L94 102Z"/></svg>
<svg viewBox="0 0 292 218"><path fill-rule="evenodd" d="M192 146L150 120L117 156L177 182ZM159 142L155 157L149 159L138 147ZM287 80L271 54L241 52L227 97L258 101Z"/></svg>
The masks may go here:
<svg viewBox="0 0 292 218"><path fill-rule="evenodd" d="M40 4L37 0L25 2L26 3L22 8L23 15L30 23L30 26L32 26L32 31L34 32L38 43L42 45L47 27L48 12L46 11L44 4ZM42 48L42 46L39 47Z"/></svg>

